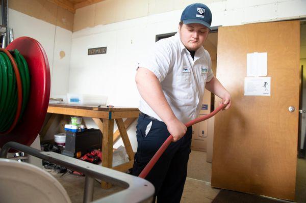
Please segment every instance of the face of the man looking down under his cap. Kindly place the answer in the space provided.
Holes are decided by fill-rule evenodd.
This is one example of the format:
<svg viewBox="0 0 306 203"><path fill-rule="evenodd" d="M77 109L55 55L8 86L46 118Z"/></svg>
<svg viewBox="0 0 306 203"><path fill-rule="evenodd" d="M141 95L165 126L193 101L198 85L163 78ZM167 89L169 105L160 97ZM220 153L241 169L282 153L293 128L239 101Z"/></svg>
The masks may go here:
<svg viewBox="0 0 306 203"><path fill-rule="evenodd" d="M204 44L208 36L209 29L202 24L191 23L179 26L179 32L184 46L188 50L195 51Z"/></svg>

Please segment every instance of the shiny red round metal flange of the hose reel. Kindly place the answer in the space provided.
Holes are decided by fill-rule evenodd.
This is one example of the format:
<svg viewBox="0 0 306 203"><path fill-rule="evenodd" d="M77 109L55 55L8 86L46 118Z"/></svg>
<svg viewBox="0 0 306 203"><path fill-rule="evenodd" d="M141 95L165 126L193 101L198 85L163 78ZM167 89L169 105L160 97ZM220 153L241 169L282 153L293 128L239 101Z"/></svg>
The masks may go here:
<svg viewBox="0 0 306 203"><path fill-rule="evenodd" d="M31 78L31 88L29 102L22 118L20 118L18 123L15 123L14 128L8 130L8 133L0 135L0 148L9 141L30 146L40 132L49 104L49 63L41 44L30 37L17 38L6 49L18 49L25 61L27 61Z"/></svg>

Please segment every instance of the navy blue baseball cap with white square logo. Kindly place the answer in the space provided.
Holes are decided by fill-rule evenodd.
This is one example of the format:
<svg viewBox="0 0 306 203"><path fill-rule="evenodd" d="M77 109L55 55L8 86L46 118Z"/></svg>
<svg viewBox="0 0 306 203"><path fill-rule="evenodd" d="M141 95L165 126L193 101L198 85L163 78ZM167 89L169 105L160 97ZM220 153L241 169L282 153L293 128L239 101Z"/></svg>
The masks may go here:
<svg viewBox="0 0 306 203"><path fill-rule="evenodd" d="M212 12L205 4L191 4L184 9L181 21L184 24L200 23L211 30Z"/></svg>

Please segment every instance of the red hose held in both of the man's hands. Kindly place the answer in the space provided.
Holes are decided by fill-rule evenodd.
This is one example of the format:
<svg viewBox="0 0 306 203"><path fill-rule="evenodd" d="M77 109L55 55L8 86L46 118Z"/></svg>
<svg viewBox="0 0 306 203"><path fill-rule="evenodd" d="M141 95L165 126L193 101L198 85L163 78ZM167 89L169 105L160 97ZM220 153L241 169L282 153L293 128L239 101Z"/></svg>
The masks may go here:
<svg viewBox="0 0 306 203"><path fill-rule="evenodd" d="M205 121L211 117L213 117L217 112L219 112L221 109L223 109L226 105L225 104L221 104L218 108L216 108L213 112L211 112L208 115L203 115L202 117L199 117L195 120L189 121L188 123L185 124L186 127L192 126L193 124L199 123L201 121ZM156 154L151 158L151 160L149 161L149 163L144 167L144 169L141 171L141 173L139 174L138 177L140 178L145 178L148 173L150 172L150 170L152 169L152 167L156 164L156 162L158 161L158 159L162 156L162 154L165 152L165 150L167 149L167 147L169 146L169 144L173 141L173 137L172 135L170 135L166 141L162 144L162 146L160 147L160 149L156 152Z"/></svg>

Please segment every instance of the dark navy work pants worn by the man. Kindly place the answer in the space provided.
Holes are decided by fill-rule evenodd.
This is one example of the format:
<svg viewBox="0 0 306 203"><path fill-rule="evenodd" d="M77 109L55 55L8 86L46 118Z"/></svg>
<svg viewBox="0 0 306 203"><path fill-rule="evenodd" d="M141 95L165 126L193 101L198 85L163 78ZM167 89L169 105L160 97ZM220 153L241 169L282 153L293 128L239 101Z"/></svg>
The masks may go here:
<svg viewBox="0 0 306 203"><path fill-rule="evenodd" d="M146 115L139 115L136 133L138 148L134 158L134 176L140 174L170 135L164 122L149 119ZM180 140L171 142L145 178L155 186L158 203L180 202L187 177L191 137L192 127L189 127Z"/></svg>

